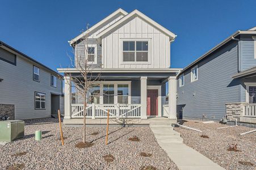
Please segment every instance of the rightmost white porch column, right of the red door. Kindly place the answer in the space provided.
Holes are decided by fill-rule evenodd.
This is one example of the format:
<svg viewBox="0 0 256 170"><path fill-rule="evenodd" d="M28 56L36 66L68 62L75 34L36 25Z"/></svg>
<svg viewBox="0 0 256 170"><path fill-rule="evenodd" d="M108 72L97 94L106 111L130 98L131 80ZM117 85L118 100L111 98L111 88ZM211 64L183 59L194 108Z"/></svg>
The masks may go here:
<svg viewBox="0 0 256 170"><path fill-rule="evenodd" d="M168 118L177 119L176 114L176 94L177 94L177 84L176 76L170 76L168 78L168 92L169 92L169 116Z"/></svg>

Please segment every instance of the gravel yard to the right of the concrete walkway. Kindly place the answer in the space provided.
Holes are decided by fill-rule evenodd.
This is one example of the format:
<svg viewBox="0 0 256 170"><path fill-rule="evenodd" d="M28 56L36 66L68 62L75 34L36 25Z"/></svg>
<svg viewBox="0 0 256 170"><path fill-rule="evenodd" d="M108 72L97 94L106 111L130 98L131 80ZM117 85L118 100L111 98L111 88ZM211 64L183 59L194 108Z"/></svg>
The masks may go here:
<svg viewBox="0 0 256 170"><path fill-rule="evenodd" d="M240 133L253 129L244 126L217 129L226 125L217 122L203 124L193 120L185 121L183 125L203 131L200 133L181 127L175 128L181 133L183 143L207 156L221 167L225 169L256 169L256 133L240 135ZM228 151L230 147L232 151Z"/></svg>

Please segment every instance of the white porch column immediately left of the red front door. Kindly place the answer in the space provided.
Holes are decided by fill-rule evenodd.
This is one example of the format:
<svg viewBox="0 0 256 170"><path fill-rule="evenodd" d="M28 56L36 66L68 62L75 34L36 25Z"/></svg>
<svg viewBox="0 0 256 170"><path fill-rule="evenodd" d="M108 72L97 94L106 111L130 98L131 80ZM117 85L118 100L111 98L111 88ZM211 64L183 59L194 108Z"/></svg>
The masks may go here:
<svg viewBox="0 0 256 170"><path fill-rule="evenodd" d="M140 78L141 119L146 119L146 76Z"/></svg>

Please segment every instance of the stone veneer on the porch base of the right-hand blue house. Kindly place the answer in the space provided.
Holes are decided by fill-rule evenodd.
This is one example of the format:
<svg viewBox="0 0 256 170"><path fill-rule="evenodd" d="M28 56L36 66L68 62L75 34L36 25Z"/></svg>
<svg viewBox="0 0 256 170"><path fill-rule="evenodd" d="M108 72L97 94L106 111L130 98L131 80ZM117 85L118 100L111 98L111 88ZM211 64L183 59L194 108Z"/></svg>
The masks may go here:
<svg viewBox="0 0 256 170"><path fill-rule="evenodd" d="M243 105L247 103L226 103L226 117L229 121L240 121L243 113Z"/></svg>

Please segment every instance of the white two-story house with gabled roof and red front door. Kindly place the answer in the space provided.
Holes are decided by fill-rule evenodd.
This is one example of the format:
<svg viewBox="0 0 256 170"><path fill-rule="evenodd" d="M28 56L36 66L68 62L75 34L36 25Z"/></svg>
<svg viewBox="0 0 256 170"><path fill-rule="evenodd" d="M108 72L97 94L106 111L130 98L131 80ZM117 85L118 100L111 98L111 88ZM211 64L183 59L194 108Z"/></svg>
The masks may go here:
<svg viewBox="0 0 256 170"><path fill-rule="evenodd" d="M100 96L94 97L94 102L87 106L87 117L104 118L110 109L112 117L147 119L167 116L176 121L176 76L181 69L170 68L170 44L175 37L140 11L128 14L119 9L69 41L81 60L90 57L91 65L95 67L93 74L101 74L101 79L88 94L94 97L99 93ZM90 52L88 56L85 43ZM57 70L66 75L79 75L76 68ZM66 124L72 118L83 117L79 97L77 104L72 104L69 80L66 76ZM169 83L169 113L163 115L166 82Z"/></svg>

